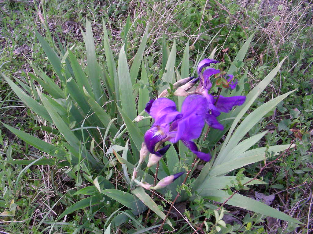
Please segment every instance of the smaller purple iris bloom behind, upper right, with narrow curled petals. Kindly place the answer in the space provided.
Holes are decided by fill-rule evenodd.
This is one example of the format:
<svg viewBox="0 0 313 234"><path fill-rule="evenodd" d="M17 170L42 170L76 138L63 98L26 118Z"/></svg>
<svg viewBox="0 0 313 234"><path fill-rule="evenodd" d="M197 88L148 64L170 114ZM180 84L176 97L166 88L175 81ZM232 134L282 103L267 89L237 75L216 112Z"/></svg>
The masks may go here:
<svg viewBox="0 0 313 234"><path fill-rule="evenodd" d="M197 87L196 93L203 95L207 100L209 110L205 114L205 122L212 128L223 130L224 126L218 122L216 117L218 117L221 114L221 112L231 111L233 107L236 105L244 104L246 97L245 96L224 97L222 95L218 97L209 94L208 91L212 87L210 76L221 72L220 70L214 68L208 68L202 73L203 68L210 66L210 64L212 63L218 63L218 61L212 59L203 59L202 61L199 62L197 71L200 77L200 85ZM227 76L229 76L229 79L227 80L228 82L233 80L233 75ZM237 80L235 80L235 82L232 81L232 83L230 84L231 89L234 89L237 84L238 84Z"/></svg>

